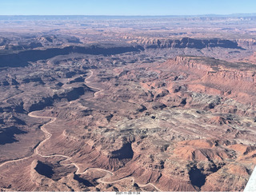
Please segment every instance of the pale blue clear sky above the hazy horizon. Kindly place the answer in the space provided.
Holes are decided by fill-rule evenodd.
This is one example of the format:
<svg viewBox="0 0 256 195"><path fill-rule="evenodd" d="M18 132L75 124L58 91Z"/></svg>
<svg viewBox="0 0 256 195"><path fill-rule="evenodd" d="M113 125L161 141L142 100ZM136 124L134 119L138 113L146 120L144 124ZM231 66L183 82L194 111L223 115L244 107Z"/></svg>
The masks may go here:
<svg viewBox="0 0 256 195"><path fill-rule="evenodd" d="M256 0L0 0L0 15L256 13Z"/></svg>

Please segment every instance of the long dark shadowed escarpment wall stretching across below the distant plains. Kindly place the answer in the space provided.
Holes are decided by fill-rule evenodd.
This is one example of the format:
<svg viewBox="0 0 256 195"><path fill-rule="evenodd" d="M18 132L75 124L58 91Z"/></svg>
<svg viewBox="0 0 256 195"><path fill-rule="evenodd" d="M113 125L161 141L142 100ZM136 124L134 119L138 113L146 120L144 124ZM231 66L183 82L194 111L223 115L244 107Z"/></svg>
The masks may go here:
<svg viewBox="0 0 256 195"><path fill-rule="evenodd" d="M230 40L214 39L194 39L182 38L177 40L154 40L153 42L137 42L137 46L66 46L64 48L50 48L46 50L23 50L17 54L0 55L0 67L27 66L29 62L46 60L58 55L67 55L72 53L92 54L92 55L114 55L126 52L140 52L145 49L157 48L194 48L202 50L206 47L222 47L230 49L245 50L238 43Z"/></svg>

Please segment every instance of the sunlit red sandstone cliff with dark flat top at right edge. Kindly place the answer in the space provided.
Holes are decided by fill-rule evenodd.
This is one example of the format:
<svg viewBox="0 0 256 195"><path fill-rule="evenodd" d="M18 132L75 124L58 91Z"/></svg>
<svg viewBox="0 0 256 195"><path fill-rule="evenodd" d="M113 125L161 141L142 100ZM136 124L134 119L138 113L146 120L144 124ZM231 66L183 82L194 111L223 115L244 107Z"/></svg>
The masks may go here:
<svg viewBox="0 0 256 195"><path fill-rule="evenodd" d="M198 80L201 84L213 86L216 90L230 89L254 93L251 89L254 89L256 83L256 66L250 63L231 63L214 58L178 56L165 62L163 66L196 74L200 77Z"/></svg>

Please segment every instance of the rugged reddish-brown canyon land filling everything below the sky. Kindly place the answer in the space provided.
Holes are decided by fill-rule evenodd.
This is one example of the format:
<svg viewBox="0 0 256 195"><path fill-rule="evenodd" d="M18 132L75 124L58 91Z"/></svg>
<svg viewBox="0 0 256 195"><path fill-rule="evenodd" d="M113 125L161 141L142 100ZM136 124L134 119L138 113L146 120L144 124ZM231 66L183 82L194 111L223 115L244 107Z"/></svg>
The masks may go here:
<svg viewBox="0 0 256 195"><path fill-rule="evenodd" d="M6 17L0 191L243 191L255 17Z"/></svg>

